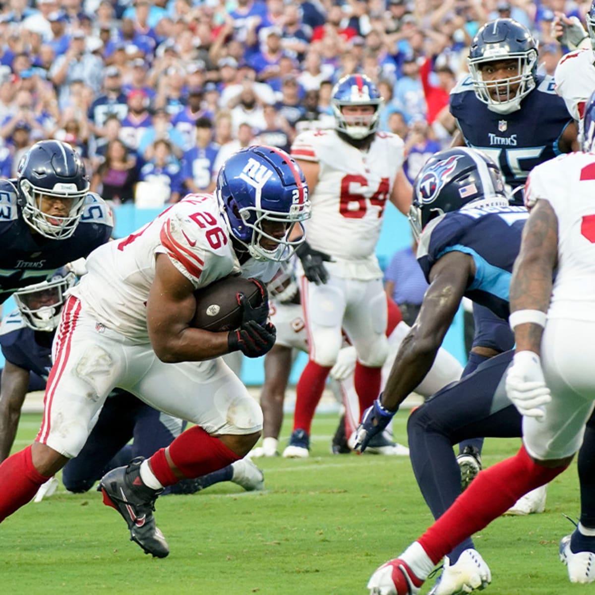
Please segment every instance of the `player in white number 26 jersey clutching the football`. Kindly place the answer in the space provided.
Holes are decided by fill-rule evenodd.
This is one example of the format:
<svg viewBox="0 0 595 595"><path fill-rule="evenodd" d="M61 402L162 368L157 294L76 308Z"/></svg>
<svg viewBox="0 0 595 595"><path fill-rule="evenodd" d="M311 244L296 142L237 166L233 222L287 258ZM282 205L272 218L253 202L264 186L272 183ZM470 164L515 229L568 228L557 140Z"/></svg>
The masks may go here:
<svg viewBox="0 0 595 595"><path fill-rule="evenodd" d="M267 299L252 308L240 295L239 330L214 333L190 326L195 292L233 273L267 283L302 241L290 234L309 209L296 162L279 149L252 146L227 159L216 195L188 195L90 255L89 272L62 310L42 427L32 446L0 465L0 519L80 452L118 386L196 424L150 459L101 480L104 502L123 516L131 540L145 553L168 555L152 513L156 497L182 478L241 459L261 432L258 403L219 356L260 356L275 342Z"/></svg>

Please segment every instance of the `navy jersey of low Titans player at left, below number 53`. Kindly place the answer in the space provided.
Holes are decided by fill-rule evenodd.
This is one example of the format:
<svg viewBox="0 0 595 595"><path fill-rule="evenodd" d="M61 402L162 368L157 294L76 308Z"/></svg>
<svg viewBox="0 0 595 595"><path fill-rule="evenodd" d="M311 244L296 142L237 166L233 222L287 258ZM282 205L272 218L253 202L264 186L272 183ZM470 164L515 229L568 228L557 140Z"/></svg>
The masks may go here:
<svg viewBox="0 0 595 595"><path fill-rule="evenodd" d="M52 369L52 339L54 333L29 328L18 310L11 312L0 325L0 347L7 362L35 372L48 380Z"/></svg>

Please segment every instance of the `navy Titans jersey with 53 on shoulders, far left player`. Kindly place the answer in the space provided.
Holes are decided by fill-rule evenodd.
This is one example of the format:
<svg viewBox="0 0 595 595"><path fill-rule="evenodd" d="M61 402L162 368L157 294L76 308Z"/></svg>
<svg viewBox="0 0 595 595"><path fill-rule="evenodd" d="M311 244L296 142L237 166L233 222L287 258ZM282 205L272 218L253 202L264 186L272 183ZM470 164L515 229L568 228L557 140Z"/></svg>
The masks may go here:
<svg viewBox="0 0 595 595"><path fill-rule="evenodd" d="M45 281L60 267L87 257L111 236L111 209L95 193L86 198L74 234L52 240L34 234L21 215L14 180L0 180L0 303L21 287Z"/></svg>

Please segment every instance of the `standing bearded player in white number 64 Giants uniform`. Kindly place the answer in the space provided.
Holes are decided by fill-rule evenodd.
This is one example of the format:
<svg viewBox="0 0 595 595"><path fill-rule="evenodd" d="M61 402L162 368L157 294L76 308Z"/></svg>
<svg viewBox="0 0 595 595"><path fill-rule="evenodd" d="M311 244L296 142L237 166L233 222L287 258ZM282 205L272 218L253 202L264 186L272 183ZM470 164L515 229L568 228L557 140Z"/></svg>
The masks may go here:
<svg viewBox="0 0 595 595"><path fill-rule="evenodd" d="M308 456L312 417L337 362L342 329L358 356L354 382L360 411L380 390L387 306L374 250L386 201L403 214L411 205L403 142L377 131L383 99L375 84L361 74L344 77L331 104L335 129L306 131L292 146L308 181L312 218L308 239L297 250L310 351L296 386L293 433L283 453L288 457Z"/></svg>

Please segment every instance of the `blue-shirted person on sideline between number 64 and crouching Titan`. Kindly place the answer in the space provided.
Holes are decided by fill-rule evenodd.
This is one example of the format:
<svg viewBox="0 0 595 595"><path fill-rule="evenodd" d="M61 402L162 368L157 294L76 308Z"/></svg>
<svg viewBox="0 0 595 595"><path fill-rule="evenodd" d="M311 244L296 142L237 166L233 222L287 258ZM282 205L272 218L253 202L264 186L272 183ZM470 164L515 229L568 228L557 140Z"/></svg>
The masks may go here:
<svg viewBox="0 0 595 595"><path fill-rule="evenodd" d="M403 320L409 326L413 326L428 289L416 253L417 242L413 240L411 246L394 253L384 271L384 289L399 305Z"/></svg>

